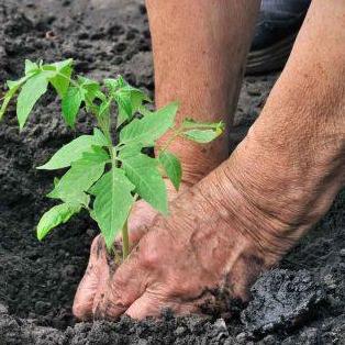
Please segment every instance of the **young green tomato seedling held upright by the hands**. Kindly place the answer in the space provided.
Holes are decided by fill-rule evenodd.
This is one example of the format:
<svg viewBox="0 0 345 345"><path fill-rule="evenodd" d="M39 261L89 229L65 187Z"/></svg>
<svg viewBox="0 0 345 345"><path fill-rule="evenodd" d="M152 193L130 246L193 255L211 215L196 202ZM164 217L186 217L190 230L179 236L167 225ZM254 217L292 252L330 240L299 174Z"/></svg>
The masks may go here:
<svg viewBox="0 0 345 345"><path fill-rule="evenodd" d="M147 108L149 98L121 76L104 79L102 84L81 76L74 78L73 59L54 64L26 59L25 76L15 81L9 80L7 85L9 90L3 98L0 119L18 93L20 130L48 86L62 99L63 118L71 129L81 107L97 120L93 134L75 138L46 164L37 167L45 170L68 168L62 178L55 178L54 189L47 194L60 203L41 218L37 225L40 241L52 229L86 209L98 223L109 251L122 232L122 254L125 258L130 251L127 220L134 202L142 198L167 214L167 190L163 177L168 177L175 188L179 188L181 164L168 152L168 144L178 136L209 143L223 131L221 122L198 123L191 119L176 126L176 102L151 111ZM111 134L112 129L118 135ZM169 129L170 138L158 156L153 158L146 155L143 149L154 147L155 142Z"/></svg>

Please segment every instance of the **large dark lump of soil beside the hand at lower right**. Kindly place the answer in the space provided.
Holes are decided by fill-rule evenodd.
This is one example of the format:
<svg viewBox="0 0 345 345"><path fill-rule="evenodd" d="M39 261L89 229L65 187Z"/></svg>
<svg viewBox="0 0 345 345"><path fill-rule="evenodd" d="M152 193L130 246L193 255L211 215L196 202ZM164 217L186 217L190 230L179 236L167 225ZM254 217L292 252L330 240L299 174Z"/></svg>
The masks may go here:
<svg viewBox="0 0 345 345"><path fill-rule="evenodd" d="M241 320L255 333L301 325L326 304L324 288L305 269L268 271L255 282L252 294Z"/></svg>

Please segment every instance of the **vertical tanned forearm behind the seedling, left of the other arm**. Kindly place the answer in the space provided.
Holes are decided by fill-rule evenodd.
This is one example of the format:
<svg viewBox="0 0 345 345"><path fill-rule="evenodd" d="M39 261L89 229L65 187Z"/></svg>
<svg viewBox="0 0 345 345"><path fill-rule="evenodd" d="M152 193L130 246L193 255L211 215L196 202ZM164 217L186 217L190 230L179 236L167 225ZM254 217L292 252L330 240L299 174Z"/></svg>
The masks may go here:
<svg viewBox="0 0 345 345"><path fill-rule="evenodd" d="M147 0L146 4L157 107L178 100L178 123L190 116L226 124L224 135L201 148L180 138L170 146L181 158L183 179L193 183L229 156L229 130L259 1Z"/></svg>

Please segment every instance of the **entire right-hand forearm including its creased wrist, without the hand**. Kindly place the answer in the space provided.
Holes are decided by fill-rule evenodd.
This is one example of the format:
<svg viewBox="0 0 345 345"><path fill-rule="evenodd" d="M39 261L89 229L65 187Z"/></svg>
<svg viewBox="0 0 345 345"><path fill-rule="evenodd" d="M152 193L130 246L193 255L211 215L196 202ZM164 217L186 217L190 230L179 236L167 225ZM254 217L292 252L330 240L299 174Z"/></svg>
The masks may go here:
<svg viewBox="0 0 345 345"><path fill-rule="evenodd" d="M313 3L259 119L213 179L233 224L277 256L345 183L345 4L332 3Z"/></svg>

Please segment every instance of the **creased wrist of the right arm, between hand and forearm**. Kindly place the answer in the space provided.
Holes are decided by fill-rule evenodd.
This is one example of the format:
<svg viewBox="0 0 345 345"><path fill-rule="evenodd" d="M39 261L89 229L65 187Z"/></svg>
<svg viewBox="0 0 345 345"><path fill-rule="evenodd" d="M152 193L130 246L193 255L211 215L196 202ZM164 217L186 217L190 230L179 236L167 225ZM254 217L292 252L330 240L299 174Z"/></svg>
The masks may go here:
<svg viewBox="0 0 345 345"><path fill-rule="evenodd" d="M209 179L214 208L253 243L266 266L277 263L326 212L342 186L338 178L327 181L326 164L304 170L275 153L249 135Z"/></svg>

